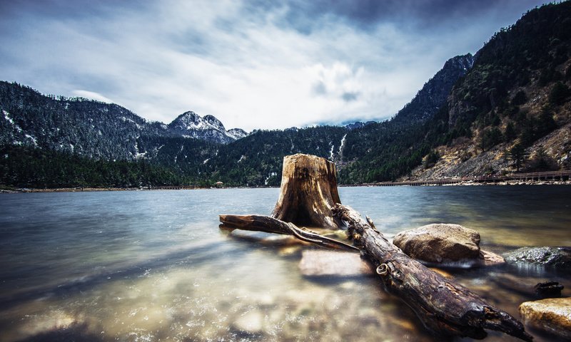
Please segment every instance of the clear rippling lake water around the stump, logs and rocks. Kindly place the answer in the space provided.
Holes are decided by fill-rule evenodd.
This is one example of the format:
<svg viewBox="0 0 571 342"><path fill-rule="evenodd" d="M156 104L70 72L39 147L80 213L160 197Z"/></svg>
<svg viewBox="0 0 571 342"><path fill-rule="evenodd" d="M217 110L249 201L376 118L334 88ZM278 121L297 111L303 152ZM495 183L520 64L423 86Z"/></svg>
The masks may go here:
<svg viewBox="0 0 571 342"><path fill-rule="evenodd" d="M304 277L300 249L218 229L218 214L269 214L278 192L0 195L0 341L438 341L374 277ZM342 187L340 197L389 238L447 222L497 253L571 246L571 187ZM557 280L571 294L557 271L448 271L516 317L532 299L518 285Z"/></svg>

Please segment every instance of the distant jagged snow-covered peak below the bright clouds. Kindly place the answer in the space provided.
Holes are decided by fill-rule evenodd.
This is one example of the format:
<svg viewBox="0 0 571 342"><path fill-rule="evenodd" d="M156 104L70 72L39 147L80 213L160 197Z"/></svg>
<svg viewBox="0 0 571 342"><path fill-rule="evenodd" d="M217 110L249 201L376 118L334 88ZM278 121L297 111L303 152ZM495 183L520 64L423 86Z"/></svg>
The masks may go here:
<svg viewBox="0 0 571 342"><path fill-rule="evenodd" d="M226 130L220 120L212 115L206 115L204 118L201 118L200 115L194 112L178 115L173 122L168 124L168 130L173 135L183 138L196 138L221 144L227 144L248 135L240 128Z"/></svg>

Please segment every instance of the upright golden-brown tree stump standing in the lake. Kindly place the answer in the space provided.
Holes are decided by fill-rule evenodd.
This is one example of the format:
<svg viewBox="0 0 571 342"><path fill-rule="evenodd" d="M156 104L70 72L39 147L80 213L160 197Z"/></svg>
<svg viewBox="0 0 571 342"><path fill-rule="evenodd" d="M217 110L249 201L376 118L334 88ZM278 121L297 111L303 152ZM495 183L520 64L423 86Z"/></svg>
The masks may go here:
<svg viewBox="0 0 571 342"><path fill-rule="evenodd" d="M315 155L283 157L280 197L271 217L298 226L339 229L331 209L341 203L335 164Z"/></svg>

